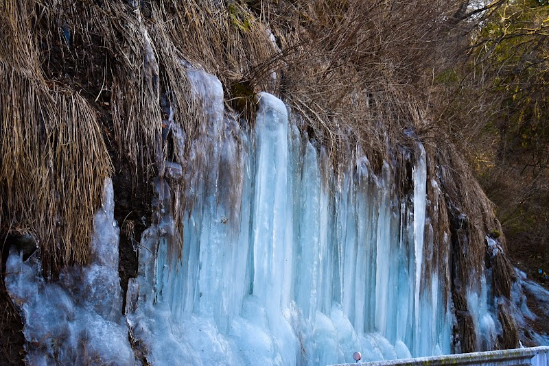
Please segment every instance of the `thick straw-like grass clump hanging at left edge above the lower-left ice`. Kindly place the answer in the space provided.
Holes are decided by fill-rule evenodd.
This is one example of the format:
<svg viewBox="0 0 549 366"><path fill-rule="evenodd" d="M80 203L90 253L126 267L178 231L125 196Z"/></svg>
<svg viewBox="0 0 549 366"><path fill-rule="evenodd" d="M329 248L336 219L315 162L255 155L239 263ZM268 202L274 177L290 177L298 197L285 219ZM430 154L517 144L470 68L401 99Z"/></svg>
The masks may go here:
<svg viewBox="0 0 549 366"><path fill-rule="evenodd" d="M0 75L1 228L35 234L47 270L85 263L111 171L95 112L78 93L3 60Z"/></svg>

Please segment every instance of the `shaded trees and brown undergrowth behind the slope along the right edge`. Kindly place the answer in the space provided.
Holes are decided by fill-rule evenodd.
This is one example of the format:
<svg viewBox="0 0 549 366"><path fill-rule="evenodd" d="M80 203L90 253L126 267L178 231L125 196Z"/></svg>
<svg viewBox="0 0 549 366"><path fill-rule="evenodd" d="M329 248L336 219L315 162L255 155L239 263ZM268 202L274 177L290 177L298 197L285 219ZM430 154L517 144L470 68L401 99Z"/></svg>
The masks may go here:
<svg viewBox="0 0 549 366"><path fill-rule="evenodd" d="M546 252L549 2L507 1L482 25L471 49L468 82L482 104L476 138L491 141L494 152L478 176L511 241Z"/></svg>

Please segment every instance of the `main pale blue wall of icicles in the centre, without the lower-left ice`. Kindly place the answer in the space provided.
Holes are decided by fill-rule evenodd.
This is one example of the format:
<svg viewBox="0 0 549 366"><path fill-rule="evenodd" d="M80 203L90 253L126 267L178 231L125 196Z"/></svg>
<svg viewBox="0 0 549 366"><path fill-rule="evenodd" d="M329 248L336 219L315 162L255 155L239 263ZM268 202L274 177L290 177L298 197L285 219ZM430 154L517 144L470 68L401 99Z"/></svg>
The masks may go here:
<svg viewBox="0 0 549 366"><path fill-rule="evenodd" d="M207 121L187 160L187 211L174 215L179 188L158 180L159 219L128 285L130 334L147 360L326 365L356 351L365 361L451 352L445 269L425 276L423 254L438 244L425 240L423 146L412 205L395 197L388 164L377 177L360 151L334 173L276 97L259 95L248 130L225 113L219 80L198 70L189 80Z"/></svg>

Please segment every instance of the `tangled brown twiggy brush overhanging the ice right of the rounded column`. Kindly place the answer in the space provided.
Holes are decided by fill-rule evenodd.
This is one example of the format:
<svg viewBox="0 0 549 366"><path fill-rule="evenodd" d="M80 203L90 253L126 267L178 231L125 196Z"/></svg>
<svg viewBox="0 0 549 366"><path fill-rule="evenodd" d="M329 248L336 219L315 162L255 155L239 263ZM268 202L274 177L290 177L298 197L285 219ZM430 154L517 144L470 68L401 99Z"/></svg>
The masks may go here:
<svg viewBox="0 0 549 366"><path fill-rule="evenodd" d="M377 171L387 143L419 128L415 87L444 43L452 2L314 0L255 8L281 47L280 92L334 162L359 144Z"/></svg>

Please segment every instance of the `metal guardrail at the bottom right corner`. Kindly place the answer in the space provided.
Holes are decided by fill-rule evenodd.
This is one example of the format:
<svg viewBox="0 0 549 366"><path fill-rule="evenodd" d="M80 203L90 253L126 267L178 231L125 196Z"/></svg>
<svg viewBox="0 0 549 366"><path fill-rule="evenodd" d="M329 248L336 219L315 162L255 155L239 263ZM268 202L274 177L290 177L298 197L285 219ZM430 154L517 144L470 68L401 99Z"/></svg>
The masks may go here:
<svg viewBox="0 0 549 366"><path fill-rule="evenodd" d="M490 352L474 352L406 358L403 360L377 361L369 363L346 363L332 366L437 366L437 365L498 365L498 366L549 366L549 347L517 348Z"/></svg>

